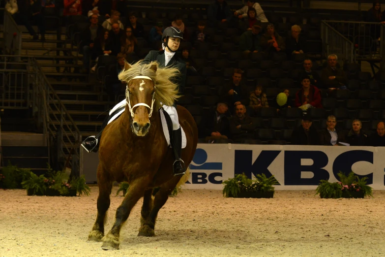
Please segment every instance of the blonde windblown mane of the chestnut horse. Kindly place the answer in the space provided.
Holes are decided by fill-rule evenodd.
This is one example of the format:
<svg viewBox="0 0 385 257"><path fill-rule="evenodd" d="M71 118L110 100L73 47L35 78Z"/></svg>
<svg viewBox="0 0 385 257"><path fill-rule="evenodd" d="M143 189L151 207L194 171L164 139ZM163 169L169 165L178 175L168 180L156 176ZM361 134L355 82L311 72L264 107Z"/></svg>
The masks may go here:
<svg viewBox="0 0 385 257"><path fill-rule="evenodd" d="M178 96L178 85L173 80L180 74L177 68L164 67L160 68L157 62L142 64L143 60L136 64L125 63L118 79L128 83L136 76L148 76L152 79L155 85L155 110L158 110L162 105L172 106L180 97ZM155 66L154 66L155 65ZM156 67L156 71L155 70Z"/></svg>

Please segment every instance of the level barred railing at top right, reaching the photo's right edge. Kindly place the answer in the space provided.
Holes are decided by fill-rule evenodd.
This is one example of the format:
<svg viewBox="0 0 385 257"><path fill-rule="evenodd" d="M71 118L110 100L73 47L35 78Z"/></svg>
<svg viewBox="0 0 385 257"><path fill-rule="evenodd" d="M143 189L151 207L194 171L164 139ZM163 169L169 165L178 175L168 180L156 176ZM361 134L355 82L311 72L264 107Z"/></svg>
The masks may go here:
<svg viewBox="0 0 385 257"><path fill-rule="evenodd" d="M354 45L356 60L381 60L384 55L385 25L377 22L322 21Z"/></svg>

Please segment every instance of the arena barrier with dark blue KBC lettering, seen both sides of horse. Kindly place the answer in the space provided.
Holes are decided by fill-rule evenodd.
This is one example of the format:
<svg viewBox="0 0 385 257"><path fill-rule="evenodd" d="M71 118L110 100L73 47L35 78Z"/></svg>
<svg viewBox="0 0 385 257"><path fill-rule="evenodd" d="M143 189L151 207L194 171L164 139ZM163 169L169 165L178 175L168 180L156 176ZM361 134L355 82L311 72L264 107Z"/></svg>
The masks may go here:
<svg viewBox="0 0 385 257"><path fill-rule="evenodd" d="M83 154L83 174L96 181L98 154ZM198 144L184 189L222 190L223 180L274 175L276 190L314 190L319 181L337 181L337 173L355 172L374 190L385 190L385 147Z"/></svg>

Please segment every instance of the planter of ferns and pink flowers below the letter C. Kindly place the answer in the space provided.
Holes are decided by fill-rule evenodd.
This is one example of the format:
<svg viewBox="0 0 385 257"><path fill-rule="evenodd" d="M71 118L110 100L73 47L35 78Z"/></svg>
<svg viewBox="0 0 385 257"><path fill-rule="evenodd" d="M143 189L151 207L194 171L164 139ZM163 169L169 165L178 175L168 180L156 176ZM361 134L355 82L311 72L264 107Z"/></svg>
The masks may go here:
<svg viewBox="0 0 385 257"><path fill-rule="evenodd" d="M365 195L373 196L372 188L366 185L367 177L360 179L353 172L346 176L341 171L337 175L339 182L330 183L327 180L321 180L316 189L316 194L320 194L321 198L363 198Z"/></svg>

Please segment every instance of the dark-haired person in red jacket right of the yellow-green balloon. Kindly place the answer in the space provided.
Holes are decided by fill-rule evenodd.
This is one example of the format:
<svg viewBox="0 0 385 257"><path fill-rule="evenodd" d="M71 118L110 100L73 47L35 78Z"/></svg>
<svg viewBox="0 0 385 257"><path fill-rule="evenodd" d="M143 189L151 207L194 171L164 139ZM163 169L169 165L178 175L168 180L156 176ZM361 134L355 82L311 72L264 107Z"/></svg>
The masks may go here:
<svg viewBox="0 0 385 257"><path fill-rule="evenodd" d="M303 111L308 108L322 108L321 91L310 84L309 77L305 76L301 80L302 88L296 93L295 106Z"/></svg>

